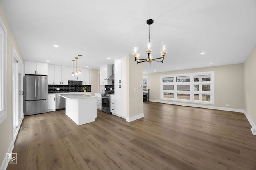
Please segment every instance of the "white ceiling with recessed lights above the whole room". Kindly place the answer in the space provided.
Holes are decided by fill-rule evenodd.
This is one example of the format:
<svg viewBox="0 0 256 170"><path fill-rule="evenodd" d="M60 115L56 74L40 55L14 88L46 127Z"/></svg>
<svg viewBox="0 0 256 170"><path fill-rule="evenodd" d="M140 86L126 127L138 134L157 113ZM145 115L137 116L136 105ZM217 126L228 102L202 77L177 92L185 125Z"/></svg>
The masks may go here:
<svg viewBox="0 0 256 170"><path fill-rule="evenodd" d="M162 41L168 53L163 64L144 63L144 73L243 63L256 45L256 0L0 2L25 60L72 66L81 54L82 68L99 69L134 44L144 51L148 19L154 57Z"/></svg>

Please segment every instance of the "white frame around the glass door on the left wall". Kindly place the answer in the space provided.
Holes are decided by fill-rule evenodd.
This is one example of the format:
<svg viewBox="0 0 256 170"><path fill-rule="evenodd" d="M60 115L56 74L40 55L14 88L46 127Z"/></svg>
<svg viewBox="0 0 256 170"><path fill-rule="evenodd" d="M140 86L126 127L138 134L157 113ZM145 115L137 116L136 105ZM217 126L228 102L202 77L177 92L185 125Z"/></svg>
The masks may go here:
<svg viewBox="0 0 256 170"><path fill-rule="evenodd" d="M23 81L23 78L24 78L24 65L23 65L23 60L20 59L20 56L18 55L16 49L14 48L14 46L12 45L12 140L13 142L15 141L17 135L18 135L18 131L20 129L20 125L22 123L22 120L24 118L24 112L23 112L23 98L21 100L21 110L22 110L22 117L20 119L20 121L18 122L18 127L17 127L17 130L14 132L14 124L13 124L13 116L14 116L14 110L13 110L13 107L14 107L14 104L15 104L15 98L13 97L14 94L16 95L19 95L17 94L17 90L15 91L15 87L13 87L13 84L14 84L14 80L13 80L13 75L16 74L16 72L13 72L13 63L14 61L18 61L18 63L20 63L20 65L22 66L22 81ZM17 79L17 78L16 78ZM16 84L17 86L17 84ZM22 83L22 90L23 90L23 83ZM18 96L16 96L18 97Z"/></svg>

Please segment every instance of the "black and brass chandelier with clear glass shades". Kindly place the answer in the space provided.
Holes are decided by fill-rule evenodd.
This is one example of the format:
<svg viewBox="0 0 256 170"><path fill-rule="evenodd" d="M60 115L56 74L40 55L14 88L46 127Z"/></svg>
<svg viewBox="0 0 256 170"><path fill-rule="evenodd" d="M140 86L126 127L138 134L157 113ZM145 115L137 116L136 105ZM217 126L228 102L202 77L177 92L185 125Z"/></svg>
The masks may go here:
<svg viewBox="0 0 256 170"><path fill-rule="evenodd" d="M147 20L147 24L149 25L149 40L146 42L146 52L148 54L148 58L147 59L141 59L140 58L140 50L139 50L139 45L134 45L133 46L133 56L134 56L134 60L137 61L138 63L142 63L142 62L149 62L149 65L151 65L152 61L158 61L158 62L162 62L164 61L164 56L167 53L167 43L166 42L162 42L161 46L160 46L160 56L158 58L153 59L153 53L152 53L152 43L150 41L150 25L154 22L154 20L149 19Z"/></svg>

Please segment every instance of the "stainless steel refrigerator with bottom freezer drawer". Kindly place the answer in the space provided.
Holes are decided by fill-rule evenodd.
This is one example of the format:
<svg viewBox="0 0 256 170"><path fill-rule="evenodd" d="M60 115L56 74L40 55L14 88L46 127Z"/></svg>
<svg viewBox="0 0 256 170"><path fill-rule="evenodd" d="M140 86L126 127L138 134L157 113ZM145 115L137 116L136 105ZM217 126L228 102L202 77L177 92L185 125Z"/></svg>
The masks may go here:
<svg viewBox="0 0 256 170"><path fill-rule="evenodd" d="M48 77L25 75L24 115L48 112Z"/></svg>

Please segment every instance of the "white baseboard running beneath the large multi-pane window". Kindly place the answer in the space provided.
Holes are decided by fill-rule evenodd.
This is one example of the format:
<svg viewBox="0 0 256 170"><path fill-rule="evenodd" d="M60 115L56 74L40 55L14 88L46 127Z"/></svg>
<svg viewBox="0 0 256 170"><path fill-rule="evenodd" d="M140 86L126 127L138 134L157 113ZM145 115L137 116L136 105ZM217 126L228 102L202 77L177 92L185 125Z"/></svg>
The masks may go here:
<svg viewBox="0 0 256 170"><path fill-rule="evenodd" d="M233 108L227 108L227 107L205 106L205 105L199 105L199 104L185 104L185 103L169 102L169 101L162 101L162 100L149 100L149 101L150 102L181 105L181 106L200 107L200 108L205 108L205 109L215 109L215 110L234 111L234 112L244 113L244 109L233 109Z"/></svg>

